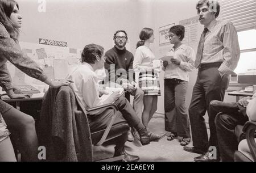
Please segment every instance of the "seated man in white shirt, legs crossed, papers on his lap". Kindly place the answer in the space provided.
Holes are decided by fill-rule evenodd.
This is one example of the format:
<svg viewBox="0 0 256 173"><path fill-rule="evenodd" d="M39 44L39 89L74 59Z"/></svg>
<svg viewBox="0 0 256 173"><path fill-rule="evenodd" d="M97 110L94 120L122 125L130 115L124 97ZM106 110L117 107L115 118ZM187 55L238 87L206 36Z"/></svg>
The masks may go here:
<svg viewBox="0 0 256 173"><path fill-rule="evenodd" d="M85 109L114 103L119 110L119 116L114 124L125 119L129 126L138 131L142 145L150 144L150 141L158 141L163 136L148 132L134 112L129 101L123 95L119 94L119 92L109 94L108 99L101 99L100 95L106 93L102 93L102 91L100 93L98 77L95 71L97 69L102 69L104 67L104 62L104 48L96 44L85 46L82 51L82 64L68 75L68 79L73 81L71 87L75 91L78 101L85 107ZM96 130L105 128L108 125L110 117L108 111L97 112L95 115L88 115L90 130L95 132ZM126 140L127 136L125 138L125 141ZM125 141L117 142L114 156L125 153L126 161L138 161L138 156L129 155L125 152Z"/></svg>

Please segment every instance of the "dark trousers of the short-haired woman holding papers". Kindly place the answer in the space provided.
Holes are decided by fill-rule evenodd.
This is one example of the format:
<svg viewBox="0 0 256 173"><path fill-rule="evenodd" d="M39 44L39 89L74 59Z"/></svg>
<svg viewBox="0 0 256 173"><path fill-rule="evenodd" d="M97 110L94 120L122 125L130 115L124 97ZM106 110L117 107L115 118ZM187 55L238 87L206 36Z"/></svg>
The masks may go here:
<svg viewBox="0 0 256 173"><path fill-rule="evenodd" d="M164 122L168 132L190 138L185 97L188 82L180 79L164 79Z"/></svg>

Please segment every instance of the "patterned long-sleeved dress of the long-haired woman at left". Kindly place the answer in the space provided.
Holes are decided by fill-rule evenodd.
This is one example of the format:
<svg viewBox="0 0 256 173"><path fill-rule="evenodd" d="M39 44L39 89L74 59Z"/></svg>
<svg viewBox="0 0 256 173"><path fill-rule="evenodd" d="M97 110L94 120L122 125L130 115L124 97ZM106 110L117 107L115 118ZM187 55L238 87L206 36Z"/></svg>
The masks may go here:
<svg viewBox="0 0 256 173"><path fill-rule="evenodd" d="M42 82L47 79L43 70L22 52L19 44L11 39L6 28L0 23L0 86L4 90L13 88L11 85L11 76L6 66L7 61L10 61L13 65L18 67L18 69L32 78L36 78ZM7 134L6 124L5 121L3 121L2 114L10 108L11 106L9 104L0 100L0 141L1 136L3 140Z"/></svg>

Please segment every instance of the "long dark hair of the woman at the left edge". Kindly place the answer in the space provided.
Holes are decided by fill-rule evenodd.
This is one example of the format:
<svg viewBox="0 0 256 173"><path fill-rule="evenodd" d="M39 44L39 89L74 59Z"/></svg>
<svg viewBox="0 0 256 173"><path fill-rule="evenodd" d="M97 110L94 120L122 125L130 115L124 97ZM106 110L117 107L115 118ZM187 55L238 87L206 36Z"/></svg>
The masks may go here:
<svg viewBox="0 0 256 173"><path fill-rule="evenodd" d="M0 22L9 32L11 38L18 41L19 29L13 27L13 23L10 20L15 5L19 9L18 3L14 0L0 0Z"/></svg>

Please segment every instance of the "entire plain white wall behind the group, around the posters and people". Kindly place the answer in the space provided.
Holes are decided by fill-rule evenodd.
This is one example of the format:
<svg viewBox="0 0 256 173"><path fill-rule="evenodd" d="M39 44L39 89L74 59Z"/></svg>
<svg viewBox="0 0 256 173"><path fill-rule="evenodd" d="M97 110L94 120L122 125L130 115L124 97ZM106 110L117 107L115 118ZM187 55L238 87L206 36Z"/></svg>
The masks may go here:
<svg viewBox="0 0 256 173"><path fill-rule="evenodd" d="M180 20L197 15L197 0L46 0L46 12L38 12L38 1L17 1L23 16L20 41L38 43L38 38L42 37L67 41L70 48L96 43L108 50L114 45L113 33L125 29L129 36L127 49L135 53L139 32L143 27L151 27L155 31L155 43L151 48L156 58L160 58L162 49L158 40L159 27L179 24ZM196 75L197 70L189 73L187 107ZM160 79L162 96L159 96L157 112L163 114L163 72Z"/></svg>

